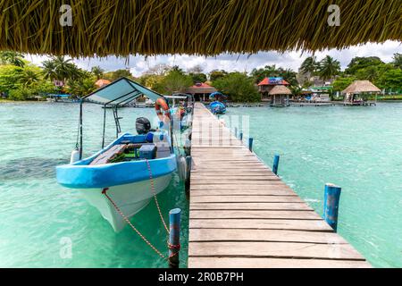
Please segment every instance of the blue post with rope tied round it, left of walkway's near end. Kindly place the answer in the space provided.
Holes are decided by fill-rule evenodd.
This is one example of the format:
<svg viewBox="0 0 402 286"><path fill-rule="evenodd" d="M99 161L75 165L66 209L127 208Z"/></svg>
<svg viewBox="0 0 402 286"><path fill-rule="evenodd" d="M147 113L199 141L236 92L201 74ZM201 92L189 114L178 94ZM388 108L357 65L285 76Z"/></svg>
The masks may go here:
<svg viewBox="0 0 402 286"><path fill-rule="evenodd" d="M169 266L171 268L179 268L179 251L180 251L180 208L173 208L169 212Z"/></svg>

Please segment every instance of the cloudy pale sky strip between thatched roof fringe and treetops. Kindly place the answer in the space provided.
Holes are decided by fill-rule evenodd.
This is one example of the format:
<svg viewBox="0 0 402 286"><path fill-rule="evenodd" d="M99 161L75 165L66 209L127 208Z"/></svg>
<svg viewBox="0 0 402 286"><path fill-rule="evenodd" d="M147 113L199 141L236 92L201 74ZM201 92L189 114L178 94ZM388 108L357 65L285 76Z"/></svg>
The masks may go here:
<svg viewBox="0 0 402 286"><path fill-rule="evenodd" d="M318 60L321 60L325 55L331 55L339 60L342 70L348 66L351 59L355 56L379 56L385 63L392 61L392 56L395 53L402 53L402 43L398 41L387 41L383 44L365 44L362 46L351 46L343 50L324 50L316 52ZM254 68L262 68L265 65L275 64L277 67L284 69L292 69L297 71L300 64L310 56L309 53L302 54L301 52L292 51L289 53L277 52L260 52L255 55L228 55L222 54L215 57L205 57L197 55L158 55L154 57L145 56L130 56L129 61L126 58L116 58L109 56L107 58L79 58L74 59L80 68L90 70L91 67L99 65L105 71L115 71L118 69L129 68L131 73L138 77L150 67L159 63L169 65L179 65L184 71L200 65L204 72L218 69L225 71L252 71ZM47 56L27 55L27 60L40 65L46 60Z"/></svg>

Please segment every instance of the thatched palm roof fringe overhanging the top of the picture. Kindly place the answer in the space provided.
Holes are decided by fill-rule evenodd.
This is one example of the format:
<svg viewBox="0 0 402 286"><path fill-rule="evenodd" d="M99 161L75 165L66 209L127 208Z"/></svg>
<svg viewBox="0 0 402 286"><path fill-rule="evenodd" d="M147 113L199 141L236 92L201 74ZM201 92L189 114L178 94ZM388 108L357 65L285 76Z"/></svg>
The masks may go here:
<svg viewBox="0 0 402 286"><path fill-rule="evenodd" d="M72 26L60 25L62 4ZM330 27L330 4L340 26ZM0 50L72 56L255 53L402 40L401 0L0 0Z"/></svg>

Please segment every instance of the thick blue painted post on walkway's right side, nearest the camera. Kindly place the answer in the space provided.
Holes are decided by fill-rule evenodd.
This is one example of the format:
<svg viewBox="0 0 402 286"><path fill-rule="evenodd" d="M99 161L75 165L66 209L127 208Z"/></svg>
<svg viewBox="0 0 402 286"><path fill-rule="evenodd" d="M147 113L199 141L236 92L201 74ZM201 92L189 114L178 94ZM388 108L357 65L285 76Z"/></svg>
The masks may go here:
<svg viewBox="0 0 402 286"><path fill-rule="evenodd" d="M337 232L338 208L341 188L334 184L326 184L324 191L323 219L330 224L333 231Z"/></svg>

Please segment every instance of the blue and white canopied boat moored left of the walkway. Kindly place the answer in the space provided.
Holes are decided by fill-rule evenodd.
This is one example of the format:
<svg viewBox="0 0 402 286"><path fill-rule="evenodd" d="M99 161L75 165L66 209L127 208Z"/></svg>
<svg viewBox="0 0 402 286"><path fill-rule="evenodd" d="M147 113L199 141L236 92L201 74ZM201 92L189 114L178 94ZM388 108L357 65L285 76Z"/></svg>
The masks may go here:
<svg viewBox="0 0 402 286"><path fill-rule="evenodd" d="M78 149L73 151L71 164L56 167L57 181L66 188L80 189L84 198L98 209L114 231L121 231L126 225L123 216L130 218L137 214L151 198L166 189L172 172L176 171L176 156L169 128L166 128L170 114L158 112L163 122L158 130L151 130L147 119L138 118L138 134L124 133L119 136L121 118L117 108L113 109L117 138L105 147L105 109L102 149L83 159L82 105L88 101L104 107L118 106L140 95L154 101L164 100L163 96L126 78L115 80L84 97L80 104L80 146L77 144Z"/></svg>

